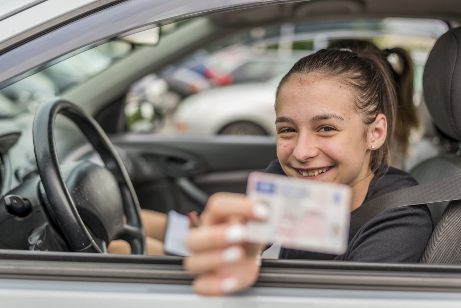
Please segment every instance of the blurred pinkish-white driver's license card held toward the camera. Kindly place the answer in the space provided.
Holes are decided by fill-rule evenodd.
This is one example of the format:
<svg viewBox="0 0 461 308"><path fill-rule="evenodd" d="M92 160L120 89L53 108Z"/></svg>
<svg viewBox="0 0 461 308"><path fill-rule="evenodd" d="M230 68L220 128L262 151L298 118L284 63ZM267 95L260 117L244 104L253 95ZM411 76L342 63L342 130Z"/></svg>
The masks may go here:
<svg viewBox="0 0 461 308"><path fill-rule="evenodd" d="M348 185L252 172L247 195L271 209L266 222L248 221L248 241L342 255L349 237Z"/></svg>

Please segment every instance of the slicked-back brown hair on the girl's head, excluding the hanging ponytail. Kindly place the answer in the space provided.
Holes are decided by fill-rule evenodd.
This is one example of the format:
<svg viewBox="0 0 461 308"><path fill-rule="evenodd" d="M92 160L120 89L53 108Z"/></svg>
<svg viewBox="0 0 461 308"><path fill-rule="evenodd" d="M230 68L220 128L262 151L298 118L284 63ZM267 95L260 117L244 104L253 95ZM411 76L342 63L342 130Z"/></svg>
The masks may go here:
<svg viewBox="0 0 461 308"><path fill-rule="evenodd" d="M281 87L291 77L343 77L338 80L355 89L355 107L365 125L373 123L379 113L387 118L386 140L380 148L372 151L370 157L370 168L376 172L381 164L389 164L397 94L395 78L384 52L372 43L370 45L357 52L351 48L320 49L301 58L278 84L276 103Z"/></svg>

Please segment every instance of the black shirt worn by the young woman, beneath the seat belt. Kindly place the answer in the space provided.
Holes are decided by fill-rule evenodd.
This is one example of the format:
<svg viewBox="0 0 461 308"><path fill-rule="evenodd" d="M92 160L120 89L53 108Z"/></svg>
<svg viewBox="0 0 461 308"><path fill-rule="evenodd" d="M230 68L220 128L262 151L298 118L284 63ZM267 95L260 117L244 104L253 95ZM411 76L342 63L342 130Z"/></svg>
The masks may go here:
<svg viewBox="0 0 461 308"><path fill-rule="evenodd" d="M380 169L386 170L386 167L382 166ZM265 172L285 175L278 160L272 161ZM379 173L378 170L377 174ZM383 175L377 175L372 179L363 203L391 191L414 185L418 185L418 182L411 175L389 167ZM350 240L344 255L282 248L279 258L418 262L429 241L432 229L431 213L426 205L395 207L378 214L363 225Z"/></svg>

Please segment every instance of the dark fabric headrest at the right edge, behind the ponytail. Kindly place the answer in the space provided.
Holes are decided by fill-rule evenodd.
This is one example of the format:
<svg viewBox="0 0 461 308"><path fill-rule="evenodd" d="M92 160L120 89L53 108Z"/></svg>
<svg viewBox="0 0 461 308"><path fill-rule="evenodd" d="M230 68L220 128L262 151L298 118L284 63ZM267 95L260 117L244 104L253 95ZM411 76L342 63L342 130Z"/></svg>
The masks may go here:
<svg viewBox="0 0 461 308"><path fill-rule="evenodd" d="M440 36L423 76L424 98L436 126L461 140L461 27Z"/></svg>

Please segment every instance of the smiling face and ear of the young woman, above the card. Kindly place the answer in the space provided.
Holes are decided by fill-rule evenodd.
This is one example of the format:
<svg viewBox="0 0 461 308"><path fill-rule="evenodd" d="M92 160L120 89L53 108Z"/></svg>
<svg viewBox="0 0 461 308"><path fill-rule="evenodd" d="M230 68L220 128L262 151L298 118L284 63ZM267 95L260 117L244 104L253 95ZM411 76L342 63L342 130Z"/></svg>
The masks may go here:
<svg viewBox="0 0 461 308"><path fill-rule="evenodd" d="M288 176L350 186L373 176L370 154L384 143L386 118L364 125L353 89L337 78L291 77L276 113L277 156Z"/></svg>

